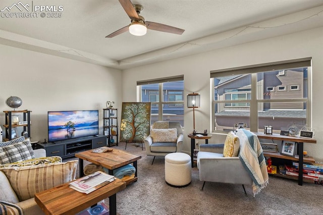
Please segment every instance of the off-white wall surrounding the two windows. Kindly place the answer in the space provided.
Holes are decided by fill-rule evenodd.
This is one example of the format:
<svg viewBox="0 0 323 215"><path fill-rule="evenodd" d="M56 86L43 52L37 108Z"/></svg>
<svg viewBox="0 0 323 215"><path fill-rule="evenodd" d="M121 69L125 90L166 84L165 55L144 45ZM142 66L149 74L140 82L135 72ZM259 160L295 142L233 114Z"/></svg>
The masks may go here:
<svg viewBox="0 0 323 215"><path fill-rule="evenodd" d="M274 37L213 50L123 71L123 101L135 101L136 81L184 74L184 94L201 94L201 108L195 112L195 128L211 129L210 71L233 67L312 57L312 128L317 144L305 143L304 150L316 160L323 160L323 28ZM185 103L185 102L184 102ZM190 152L187 134L193 130L191 110L184 110L185 133L183 151ZM224 135L213 134L211 143L224 142Z"/></svg>

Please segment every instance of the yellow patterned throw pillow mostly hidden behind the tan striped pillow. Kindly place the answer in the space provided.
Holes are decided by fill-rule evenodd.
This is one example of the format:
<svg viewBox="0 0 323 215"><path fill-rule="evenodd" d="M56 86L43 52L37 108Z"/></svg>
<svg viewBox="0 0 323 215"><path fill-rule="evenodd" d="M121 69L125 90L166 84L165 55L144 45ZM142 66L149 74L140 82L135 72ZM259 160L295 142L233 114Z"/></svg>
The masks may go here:
<svg viewBox="0 0 323 215"><path fill-rule="evenodd" d="M32 158L32 159L24 160L22 162L3 164L3 165L0 165L0 168L26 167L26 166L45 165L45 164L61 163L61 162L62 162L62 157L60 157L60 156L39 157L39 158Z"/></svg>

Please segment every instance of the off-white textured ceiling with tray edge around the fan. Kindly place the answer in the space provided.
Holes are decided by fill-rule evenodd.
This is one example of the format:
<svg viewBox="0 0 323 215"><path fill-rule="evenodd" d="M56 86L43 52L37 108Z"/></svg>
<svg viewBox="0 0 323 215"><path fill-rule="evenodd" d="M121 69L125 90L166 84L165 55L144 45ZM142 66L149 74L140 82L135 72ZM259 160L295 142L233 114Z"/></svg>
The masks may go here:
<svg viewBox="0 0 323 215"><path fill-rule="evenodd" d="M19 0L1 0L0 10L14 3ZM125 32L105 38L130 23L118 0L21 3L30 8L63 6L64 11L60 18L41 18L40 13L32 18L4 17L20 12L15 7L0 12L1 44L119 69L323 26L323 0L132 0L143 6L140 15L146 21L185 32L148 30L139 37Z"/></svg>

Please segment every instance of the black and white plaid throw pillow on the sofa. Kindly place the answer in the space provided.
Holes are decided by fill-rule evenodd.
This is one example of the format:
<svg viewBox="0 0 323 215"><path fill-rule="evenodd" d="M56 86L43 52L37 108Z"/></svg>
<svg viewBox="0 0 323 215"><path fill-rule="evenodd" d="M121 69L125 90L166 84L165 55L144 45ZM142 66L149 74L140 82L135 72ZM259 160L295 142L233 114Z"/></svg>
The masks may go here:
<svg viewBox="0 0 323 215"><path fill-rule="evenodd" d="M31 158L35 158L35 156L29 138L19 143L0 147L0 164L21 162Z"/></svg>

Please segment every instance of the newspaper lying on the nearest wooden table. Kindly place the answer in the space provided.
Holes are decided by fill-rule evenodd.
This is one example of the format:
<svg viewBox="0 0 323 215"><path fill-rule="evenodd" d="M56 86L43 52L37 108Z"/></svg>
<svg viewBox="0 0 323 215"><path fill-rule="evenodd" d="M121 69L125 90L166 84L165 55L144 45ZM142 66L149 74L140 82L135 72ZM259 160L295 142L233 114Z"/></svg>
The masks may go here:
<svg viewBox="0 0 323 215"><path fill-rule="evenodd" d="M70 183L70 188L82 192L90 193L116 180L114 176L97 171L91 175L84 176Z"/></svg>

